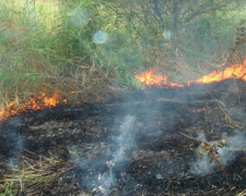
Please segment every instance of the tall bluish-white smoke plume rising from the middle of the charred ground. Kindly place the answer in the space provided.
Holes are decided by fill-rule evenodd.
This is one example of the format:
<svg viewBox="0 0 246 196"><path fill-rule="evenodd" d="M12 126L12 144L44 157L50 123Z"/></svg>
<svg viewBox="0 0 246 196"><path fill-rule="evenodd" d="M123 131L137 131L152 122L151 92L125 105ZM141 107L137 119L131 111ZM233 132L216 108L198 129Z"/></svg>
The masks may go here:
<svg viewBox="0 0 246 196"><path fill-rule="evenodd" d="M95 158L80 158L75 161L78 167L86 171L89 175L82 177L82 185L91 189L93 194L109 195L112 187L117 185L116 175L125 172L126 160L130 160L131 151L136 146L134 121L136 118L132 115L125 117L117 135L110 136L108 144L104 144L105 149L98 146L102 151L110 151L109 157L102 156L101 152ZM70 149L80 151L77 146Z"/></svg>

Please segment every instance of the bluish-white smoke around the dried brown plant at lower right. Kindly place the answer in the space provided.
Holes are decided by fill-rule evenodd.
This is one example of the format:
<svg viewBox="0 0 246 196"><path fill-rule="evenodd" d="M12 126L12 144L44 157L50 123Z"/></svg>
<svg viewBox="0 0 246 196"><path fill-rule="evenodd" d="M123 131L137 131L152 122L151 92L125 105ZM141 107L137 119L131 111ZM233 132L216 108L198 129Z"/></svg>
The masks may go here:
<svg viewBox="0 0 246 196"><path fill-rule="evenodd" d="M198 135L198 139L206 140L204 134L200 133ZM233 161L238 154L241 154L243 150L246 150L246 135L245 133L237 132L232 136L227 136L226 133L222 134L222 138L225 139L226 145L224 147L219 147L218 152L220 155L219 161L223 167L226 167L226 164L231 161ZM219 142L215 142L219 144ZM212 172L216 167L214 162L210 162L210 159L206 155L199 156L198 150L200 147L197 149L197 159L190 167L190 173L194 174L206 174Z"/></svg>

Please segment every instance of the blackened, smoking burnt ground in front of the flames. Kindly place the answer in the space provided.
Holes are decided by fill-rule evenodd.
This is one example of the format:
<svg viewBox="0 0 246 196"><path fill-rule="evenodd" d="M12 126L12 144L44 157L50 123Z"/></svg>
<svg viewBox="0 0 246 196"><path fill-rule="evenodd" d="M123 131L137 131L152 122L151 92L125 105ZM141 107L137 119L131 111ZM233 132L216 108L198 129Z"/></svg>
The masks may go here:
<svg viewBox="0 0 246 196"><path fill-rule="evenodd" d="M245 82L227 79L21 113L0 127L0 182L17 179L19 195L236 195L245 107ZM198 155L199 139L222 138L224 172ZM20 175L32 170L51 177Z"/></svg>

